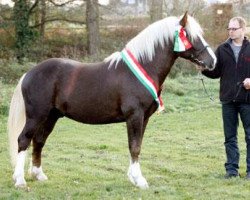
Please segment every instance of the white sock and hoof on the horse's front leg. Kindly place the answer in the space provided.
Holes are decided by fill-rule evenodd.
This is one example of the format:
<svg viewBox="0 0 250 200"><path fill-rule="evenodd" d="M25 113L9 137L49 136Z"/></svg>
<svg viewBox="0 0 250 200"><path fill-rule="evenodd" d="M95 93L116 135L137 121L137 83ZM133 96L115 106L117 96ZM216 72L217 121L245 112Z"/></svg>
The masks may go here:
<svg viewBox="0 0 250 200"><path fill-rule="evenodd" d="M128 177L129 177L129 180L135 186L141 189L148 188L147 180L142 176L139 162L132 163L132 161L130 161L130 166L128 168Z"/></svg>

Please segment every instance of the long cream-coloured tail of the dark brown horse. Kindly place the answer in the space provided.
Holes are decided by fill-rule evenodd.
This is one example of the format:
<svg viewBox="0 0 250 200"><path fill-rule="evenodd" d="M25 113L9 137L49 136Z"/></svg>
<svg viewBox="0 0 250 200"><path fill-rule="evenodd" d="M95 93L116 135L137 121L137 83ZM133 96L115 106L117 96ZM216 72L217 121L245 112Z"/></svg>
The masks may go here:
<svg viewBox="0 0 250 200"><path fill-rule="evenodd" d="M15 88L14 94L11 99L9 118L8 118L8 136L9 136L9 151L11 157L11 164L13 167L16 165L16 159L18 154L18 136L21 134L25 122L25 105L23 94L21 90L22 82L25 74L19 80L18 85Z"/></svg>

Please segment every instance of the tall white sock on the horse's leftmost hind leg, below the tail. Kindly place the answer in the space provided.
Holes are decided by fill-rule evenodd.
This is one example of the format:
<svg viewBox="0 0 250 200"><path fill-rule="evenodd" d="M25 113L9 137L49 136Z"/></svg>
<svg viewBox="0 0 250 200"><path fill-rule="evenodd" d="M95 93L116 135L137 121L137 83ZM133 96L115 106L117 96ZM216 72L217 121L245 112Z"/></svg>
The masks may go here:
<svg viewBox="0 0 250 200"><path fill-rule="evenodd" d="M26 187L26 181L24 179L24 165L25 165L26 151L21 151L17 155L17 162L15 171L13 174L13 180L15 181L16 187Z"/></svg>

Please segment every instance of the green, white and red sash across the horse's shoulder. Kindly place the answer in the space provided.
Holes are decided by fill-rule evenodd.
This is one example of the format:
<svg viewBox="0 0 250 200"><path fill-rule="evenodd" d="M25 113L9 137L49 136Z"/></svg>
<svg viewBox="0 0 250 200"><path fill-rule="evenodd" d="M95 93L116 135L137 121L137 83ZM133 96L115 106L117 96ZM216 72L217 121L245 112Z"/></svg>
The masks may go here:
<svg viewBox="0 0 250 200"><path fill-rule="evenodd" d="M144 85L144 87L149 91L152 95L156 103L158 104L158 112L164 110L164 105L161 96L158 96L159 88L155 84L154 80L148 75L148 73L144 70L135 56L131 53L131 51L127 48L122 50L121 56L123 61L127 64L128 68L132 71L132 73L136 76L136 78Z"/></svg>

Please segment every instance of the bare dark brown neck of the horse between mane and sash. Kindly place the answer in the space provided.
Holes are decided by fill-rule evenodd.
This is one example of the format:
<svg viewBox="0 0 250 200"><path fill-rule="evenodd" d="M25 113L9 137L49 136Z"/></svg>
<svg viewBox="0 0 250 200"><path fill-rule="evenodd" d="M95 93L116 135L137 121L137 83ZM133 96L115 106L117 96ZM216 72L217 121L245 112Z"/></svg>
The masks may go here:
<svg viewBox="0 0 250 200"><path fill-rule="evenodd" d="M162 49L158 47L155 50L153 60L147 62L144 67L156 84L161 86L176 59L177 56L171 49Z"/></svg>

